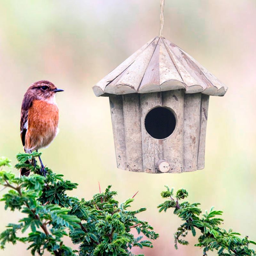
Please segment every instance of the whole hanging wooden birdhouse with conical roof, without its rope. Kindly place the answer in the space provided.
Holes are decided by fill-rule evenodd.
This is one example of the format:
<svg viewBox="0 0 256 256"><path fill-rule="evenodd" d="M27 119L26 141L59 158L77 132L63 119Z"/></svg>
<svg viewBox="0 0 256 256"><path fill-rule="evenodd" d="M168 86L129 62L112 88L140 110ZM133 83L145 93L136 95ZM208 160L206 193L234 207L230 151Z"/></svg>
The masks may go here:
<svg viewBox="0 0 256 256"><path fill-rule="evenodd" d="M203 169L209 96L227 89L177 45L150 40L93 86L96 96L109 97L117 167Z"/></svg>

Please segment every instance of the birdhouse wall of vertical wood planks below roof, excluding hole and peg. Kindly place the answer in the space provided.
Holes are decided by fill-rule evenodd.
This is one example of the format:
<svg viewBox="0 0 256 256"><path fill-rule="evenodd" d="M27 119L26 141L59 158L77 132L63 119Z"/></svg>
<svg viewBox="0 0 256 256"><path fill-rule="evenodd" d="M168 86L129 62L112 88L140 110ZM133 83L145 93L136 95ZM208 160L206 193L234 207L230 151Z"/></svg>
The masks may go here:
<svg viewBox="0 0 256 256"><path fill-rule="evenodd" d="M168 172L204 168L209 96L183 90L109 96L117 167L133 172L160 173L165 160ZM156 107L172 111L176 126L165 139L155 139L145 128L145 117Z"/></svg>

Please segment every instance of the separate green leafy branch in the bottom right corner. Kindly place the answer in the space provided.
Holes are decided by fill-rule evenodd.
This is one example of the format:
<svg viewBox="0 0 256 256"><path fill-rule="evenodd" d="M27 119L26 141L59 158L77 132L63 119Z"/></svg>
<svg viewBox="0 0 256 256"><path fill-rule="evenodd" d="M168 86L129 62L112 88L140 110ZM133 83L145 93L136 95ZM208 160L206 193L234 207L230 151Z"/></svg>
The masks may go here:
<svg viewBox="0 0 256 256"><path fill-rule="evenodd" d="M220 228L223 219L219 218L222 211L215 211L213 207L210 212L202 213L198 207L199 203L189 203L187 201L180 203L180 199L188 197L188 192L185 189L180 189L176 192L176 198L173 198L173 189L167 188L161 193L163 198L168 198L168 201L158 206L159 212L166 212L169 208L174 209L174 214L177 215L183 223L174 234L175 248L178 248L178 243L187 245L188 241L184 240L188 232L191 231L193 236L196 236L196 229L200 231L198 244L195 246L203 248L203 255L207 255L208 251L216 251L220 256L255 256L256 252L249 248L250 244L256 244L250 241L247 236L240 237L239 233L233 232L231 229L226 231ZM171 192L171 193L170 193ZM167 196L169 195L169 196Z"/></svg>

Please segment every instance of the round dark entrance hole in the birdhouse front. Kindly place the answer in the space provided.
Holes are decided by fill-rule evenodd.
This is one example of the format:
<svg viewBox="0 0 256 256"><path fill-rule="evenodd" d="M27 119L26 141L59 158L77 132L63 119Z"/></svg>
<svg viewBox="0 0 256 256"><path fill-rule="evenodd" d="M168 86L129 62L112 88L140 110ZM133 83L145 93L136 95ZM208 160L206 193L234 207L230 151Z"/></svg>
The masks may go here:
<svg viewBox="0 0 256 256"><path fill-rule="evenodd" d="M174 113L163 107L151 109L145 117L145 128L150 136L155 139L169 137L176 127Z"/></svg>

